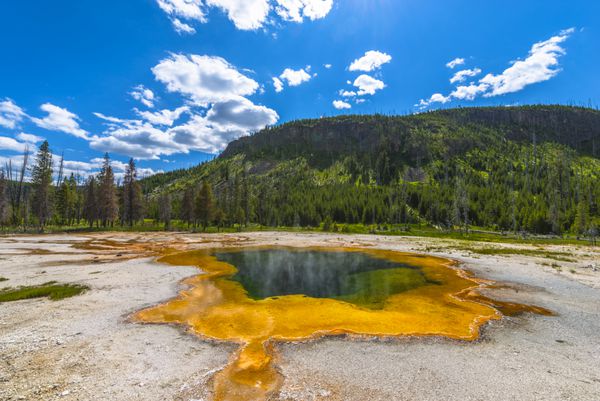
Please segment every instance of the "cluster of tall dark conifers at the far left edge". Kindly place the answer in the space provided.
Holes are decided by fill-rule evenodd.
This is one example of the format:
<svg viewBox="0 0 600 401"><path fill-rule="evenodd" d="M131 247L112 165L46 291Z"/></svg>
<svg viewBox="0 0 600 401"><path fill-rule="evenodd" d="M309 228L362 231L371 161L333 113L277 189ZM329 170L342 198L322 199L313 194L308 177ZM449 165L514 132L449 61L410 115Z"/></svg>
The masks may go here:
<svg viewBox="0 0 600 401"><path fill-rule="evenodd" d="M133 159L122 182L115 180L108 154L100 172L86 179L74 173L65 176L63 158L55 171L48 141L41 144L31 165L30 160L26 149L20 166L9 161L0 170L3 226L44 230L48 225L86 222L89 227L109 228L115 224L133 226L143 218L143 194Z"/></svg>

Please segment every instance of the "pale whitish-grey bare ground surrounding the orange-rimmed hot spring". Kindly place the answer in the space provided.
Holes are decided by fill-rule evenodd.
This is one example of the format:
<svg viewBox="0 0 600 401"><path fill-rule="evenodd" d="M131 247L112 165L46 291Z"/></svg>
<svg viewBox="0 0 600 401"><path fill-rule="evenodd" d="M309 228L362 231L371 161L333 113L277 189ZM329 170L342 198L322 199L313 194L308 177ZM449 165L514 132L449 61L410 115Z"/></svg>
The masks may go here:
<svg viewBox="0 0 600 401"><path fill-rule="evenodd" d="M494 244L541 255L496 256L472 252L489 244L453 240L260 232L0 238L0 277L8 279L0 286L58 281L91 288L62 301L0 304L0 400L210 399L210 378L236 347L128 317L176 296L179 282L199 273L155 262L162 249L238 245L449 257L477 277L506 284L486 295L557 314L504 318L475 343L335 337L281 344L281 400L600 399L600 270L589 268L600 267L598 248Z"/></svg>

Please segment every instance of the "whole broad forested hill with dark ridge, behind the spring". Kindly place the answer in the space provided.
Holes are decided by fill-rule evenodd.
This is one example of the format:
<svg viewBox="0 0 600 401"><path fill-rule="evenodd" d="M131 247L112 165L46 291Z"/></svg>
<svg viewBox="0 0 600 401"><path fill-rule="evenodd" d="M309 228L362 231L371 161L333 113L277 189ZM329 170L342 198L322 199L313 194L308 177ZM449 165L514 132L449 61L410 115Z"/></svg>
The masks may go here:
<svg viewBox="0 0 600 401"><path fill-rule="evenodd" d="M174 194L185 213L203 181L219 224L584 233L599 223L600 112L525 106L294 121L146 188Z"/></svg>

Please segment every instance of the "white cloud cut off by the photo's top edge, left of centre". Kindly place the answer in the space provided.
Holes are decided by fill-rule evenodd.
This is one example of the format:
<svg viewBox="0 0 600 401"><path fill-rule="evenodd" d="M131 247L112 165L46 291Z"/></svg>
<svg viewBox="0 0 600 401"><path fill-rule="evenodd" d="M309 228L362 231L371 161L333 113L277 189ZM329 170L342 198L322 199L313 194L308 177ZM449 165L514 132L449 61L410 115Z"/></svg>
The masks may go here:
<svg viewBox="0 0 600 401"><path fill-rule="evenodd" d="M263 28L274 16L284 21L301 23L304 19L324 18L333 0L156 0L171 19L178 33L191 34L195 29L188 22L207 22L207 9L217 8L227 14L236 28ZM275 14L271 14L274 11Z"/></svg>

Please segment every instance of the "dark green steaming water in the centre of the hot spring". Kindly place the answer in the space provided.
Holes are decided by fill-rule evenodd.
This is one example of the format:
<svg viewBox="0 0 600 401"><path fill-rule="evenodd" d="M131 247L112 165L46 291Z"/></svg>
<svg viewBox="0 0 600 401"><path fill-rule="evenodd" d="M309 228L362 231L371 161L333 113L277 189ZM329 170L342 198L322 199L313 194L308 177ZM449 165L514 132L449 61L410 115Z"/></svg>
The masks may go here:
<svg viewBox="0 0 600 401"><path fill-rule="evenodd" d="M257 300L305 295L380 309L390 295L435 284L416 266L361 252L270 249L215 256L238 269L231 280Z"/></svg>

